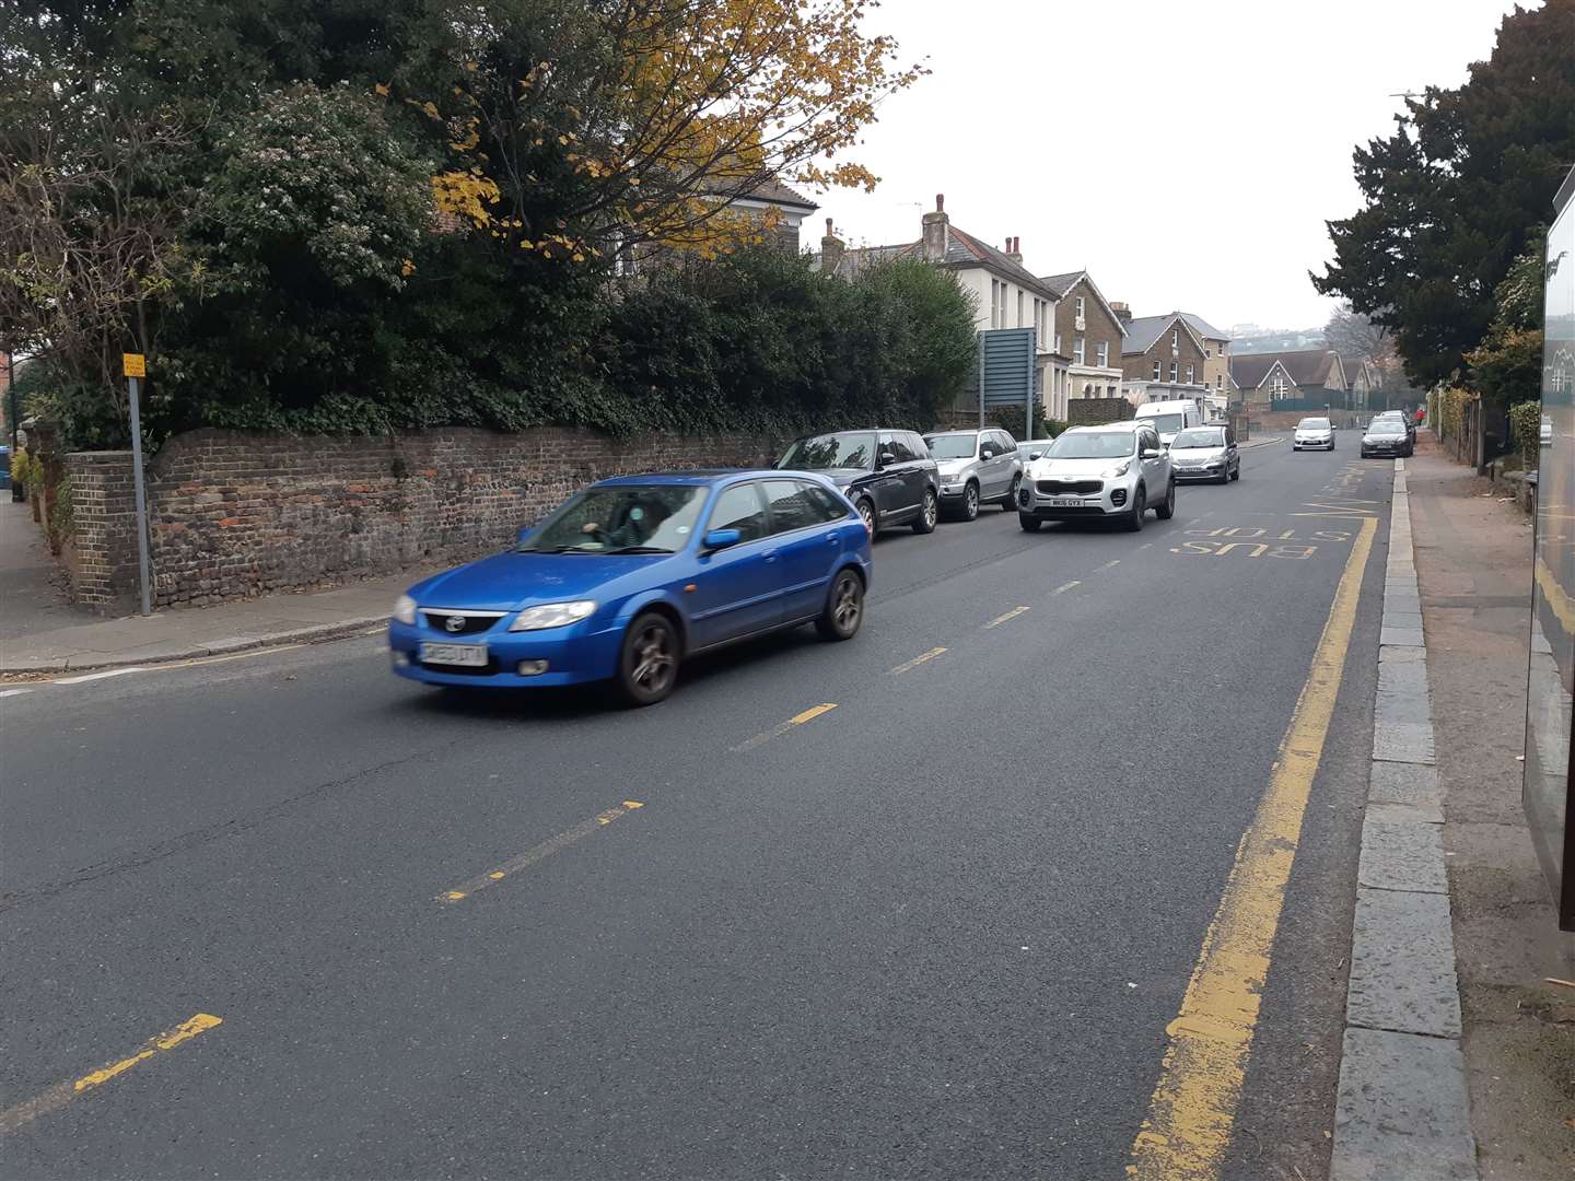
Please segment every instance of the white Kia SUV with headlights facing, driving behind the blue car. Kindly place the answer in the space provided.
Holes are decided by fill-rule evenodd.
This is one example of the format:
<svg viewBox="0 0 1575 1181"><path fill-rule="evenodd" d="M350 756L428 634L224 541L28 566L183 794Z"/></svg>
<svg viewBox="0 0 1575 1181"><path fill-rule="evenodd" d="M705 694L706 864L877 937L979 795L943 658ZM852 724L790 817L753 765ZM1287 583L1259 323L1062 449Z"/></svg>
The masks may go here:
<svg viewBox="0 0 1575 1181"><path fill-rule="evenodd" d="M1030 534L1043 521L1118 520L1136 531L1150 509L1161 521L1175 515L1170 452L1147 422L1073 427L1035 454L1017 491L1017 523Z"/></svg>

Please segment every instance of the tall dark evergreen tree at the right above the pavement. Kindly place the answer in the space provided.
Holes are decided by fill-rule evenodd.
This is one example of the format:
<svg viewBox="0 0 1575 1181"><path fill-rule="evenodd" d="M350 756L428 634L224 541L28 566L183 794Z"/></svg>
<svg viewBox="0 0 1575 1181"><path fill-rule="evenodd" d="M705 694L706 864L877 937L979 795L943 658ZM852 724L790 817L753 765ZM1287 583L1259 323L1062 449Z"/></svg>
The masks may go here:
<svg viewBox="0 0 1575 1181"><path fill-rule="evenodd" d="M1572 44L1575 0L1517 6L1463 87L1429 87L1353 154L1366 203L1328 224L1334 260L1312 282L1388 328L1416 384L1463 367L1575 159Z"/></svg>

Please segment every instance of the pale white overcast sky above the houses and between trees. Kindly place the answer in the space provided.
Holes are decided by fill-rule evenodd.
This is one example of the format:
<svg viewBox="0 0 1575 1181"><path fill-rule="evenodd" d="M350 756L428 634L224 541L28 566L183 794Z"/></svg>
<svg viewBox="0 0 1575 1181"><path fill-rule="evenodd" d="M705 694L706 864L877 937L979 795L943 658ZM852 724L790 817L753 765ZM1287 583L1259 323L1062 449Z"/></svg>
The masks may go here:
<svg viewBox="0 0 1575 1181"><path fill-rule="evenodd" d="M887 0L871 28L934 72L849 153L876 191L817 197L803 241L825 216L849 244L915 241L943 192L953 225L1019 236L1035 274L1088 268L1137 315L1321 326L1307 271L1358 208L1351 146L1392 131L1391 94L1460 85L1512 8Z"/></svg>

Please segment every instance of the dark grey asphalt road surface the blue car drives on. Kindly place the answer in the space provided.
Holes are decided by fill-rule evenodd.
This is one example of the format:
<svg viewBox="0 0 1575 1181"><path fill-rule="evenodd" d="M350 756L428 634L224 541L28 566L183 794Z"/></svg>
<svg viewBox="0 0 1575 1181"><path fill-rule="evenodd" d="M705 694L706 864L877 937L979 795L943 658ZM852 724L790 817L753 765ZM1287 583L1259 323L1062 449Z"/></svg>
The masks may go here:
<svg viewBox="0 0 1575 1181"><path fill-rule="evenodd" d="M376 638L0 701L3 1172L1123 1176L1386 535L1351 452L1251 449L1136 535L888 534L855 641L647 710L455 699ZM1326 1168L1380 559L1227 1176Z"/></svg>

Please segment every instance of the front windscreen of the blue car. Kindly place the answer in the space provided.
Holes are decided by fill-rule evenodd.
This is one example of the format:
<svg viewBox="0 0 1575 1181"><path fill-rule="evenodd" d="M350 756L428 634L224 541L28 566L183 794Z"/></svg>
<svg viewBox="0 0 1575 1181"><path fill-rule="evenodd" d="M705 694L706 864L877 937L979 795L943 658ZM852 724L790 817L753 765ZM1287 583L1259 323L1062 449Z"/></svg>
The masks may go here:
<svg viewBox="0 0 1575 1181"><path fill-rule="evenodd" d="M586 488L564 501L518 553L677 553L704 502L706 490L698 485Z"/></svg>

